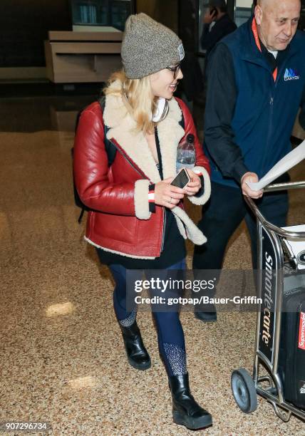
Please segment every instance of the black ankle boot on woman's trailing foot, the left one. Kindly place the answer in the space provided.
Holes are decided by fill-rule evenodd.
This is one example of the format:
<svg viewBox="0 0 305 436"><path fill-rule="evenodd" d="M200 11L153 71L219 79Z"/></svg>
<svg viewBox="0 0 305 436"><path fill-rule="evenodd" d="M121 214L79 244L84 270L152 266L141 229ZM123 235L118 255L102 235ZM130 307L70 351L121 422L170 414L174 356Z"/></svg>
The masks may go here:
<svg viewBox="0 0 305 436"><path fill-rule="evenodd" d="M120 330L130 365L139 370L150 368L150 355L143 344L137 322L135 321L130 327L120 325Z"/></svg>

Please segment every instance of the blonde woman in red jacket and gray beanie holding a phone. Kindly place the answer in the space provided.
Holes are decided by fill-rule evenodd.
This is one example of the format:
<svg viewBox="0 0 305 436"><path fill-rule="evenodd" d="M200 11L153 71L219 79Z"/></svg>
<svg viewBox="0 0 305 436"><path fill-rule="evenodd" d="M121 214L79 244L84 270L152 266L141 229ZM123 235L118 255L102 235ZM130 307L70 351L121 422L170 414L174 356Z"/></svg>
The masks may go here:
<svg viewBox="0 0 305 436"><path fill-rule="evenodd" d="M180 39L145 14L130 16L121 55L124 69L105 88L103 113L101 105L93 103L81 115L74 174L81 200L92 209L86 240L97 248L115 280L113 303L128 362L145 370L150 356L135 321L136 308L126 307L126 269L185 269L185 239L195 244L206 239L185 213L182 199L204 204L210 197L210 177L192 117L186 105L173 98L183 77ZM190 133L195 135L196 167L189 171L187 187L180 189L170 182L177 145ZM116 149L110 167L106 142ZM153 314L174 421L191 429L211 425L210 413L190 394L178 310Z"/></svg>

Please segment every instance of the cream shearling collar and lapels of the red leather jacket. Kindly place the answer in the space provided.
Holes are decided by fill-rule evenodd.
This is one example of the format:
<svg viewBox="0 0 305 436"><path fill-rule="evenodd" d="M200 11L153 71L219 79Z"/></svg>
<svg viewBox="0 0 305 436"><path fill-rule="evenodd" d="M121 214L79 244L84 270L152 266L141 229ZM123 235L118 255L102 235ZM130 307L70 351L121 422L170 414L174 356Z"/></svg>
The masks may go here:
<svg viewBox="0 0 305 436"><path fill-rule="evenodd" d="M118 88L120 84L116 81L110 86ZM164 178L175 176L177 145L185 134L179 124L182 112L177 100L172 98L168 103L169 111L165 120L157 123ZM135 133L135 120L128 113L120 96L106 95L103 119L109 128L108 139L115 139L151 182L160 182L160 175L148 142L142 132Z"/></svg>

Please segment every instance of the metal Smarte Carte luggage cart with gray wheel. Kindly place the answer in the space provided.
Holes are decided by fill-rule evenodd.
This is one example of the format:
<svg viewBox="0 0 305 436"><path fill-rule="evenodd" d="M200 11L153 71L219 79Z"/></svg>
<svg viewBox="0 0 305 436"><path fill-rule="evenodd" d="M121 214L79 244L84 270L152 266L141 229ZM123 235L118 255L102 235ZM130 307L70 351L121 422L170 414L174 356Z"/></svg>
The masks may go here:
<svg viewBox="0 0 305 436"><path fill-rule="evenodd" d="M305 182L280 183L269 185L264 188L264 192L304 187ZM284 377L279 361L281 355L283 355L281 318L286 316L286 314L283 315L282 313L284 293L289 293L289 289L294 291L294 288L298 287L299 296L301 295L302 299L305 296L305 231L291 231L291 229L295 229L294 226L290 230L289 227L285 227L285 229L276 227L263 217L251 198L245 197L245 200L257 217L259 256L257 284L258 296L262 298L262 303L259 304L257 311L253 376L245 368L234 370L231 378L232 393L237 405L244 413L256 410L257 395L261 395L272 403L276 415L284 422L289 421L291 413L305 420L305 406L302 405L299 408L298 405L291 403L290 400L287 401L285 398L284 383L287 383L287 380L286 382L283 381ZM291 251L287 249L291 241L303 241L299 255L291 255ZM299 266L303 269L299 269ZM266 304L270 306L270 310L268 310ZM267 318L265 318L265 315ZM303 313L300 315L299 325L301 325L301 316L304 316ZM305 323L305 316L303 322ZM303 331L302 335L303 341ZM305 353L305 350L301 350L301 352ZM302 355L302 358L304 358L304 355ZM260 370L263 369L266 375L259 375ZM305 380L305 366L301 369L301 373L304 373ZM302 389L304 392L301 391L301 393L305 397L305 382Z"/></svg>

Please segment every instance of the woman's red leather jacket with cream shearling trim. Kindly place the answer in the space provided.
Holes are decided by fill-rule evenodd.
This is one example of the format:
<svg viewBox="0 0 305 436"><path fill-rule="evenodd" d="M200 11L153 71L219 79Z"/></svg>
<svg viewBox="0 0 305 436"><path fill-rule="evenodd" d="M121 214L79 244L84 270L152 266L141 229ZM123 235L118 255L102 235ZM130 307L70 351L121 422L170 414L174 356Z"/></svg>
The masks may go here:
<svg viewBox="0 0 305 436"><path fill-rule="evenodd" d="M179 125L181 110L185 132ZM110 128L107 137L117 148L109 168L104 122ZM99 103L88 106L76 133L74 177L81 200L92 209L88 212L85 239L106 251L154 259L160 256L162 249L165 211L156 206L154 213L149 212L148 186L160 181L160 175L143 133L135 133L134 126L121 98L107 95L103 114ZM165 178L175 175L177 145L181 138L188 133L195 135L196 165L205 178L205 193L190 200L196 204L206 202L210 197L210 167L192 116L182 100L170 100L169 113L157 124L157 132ZM197 244L206 241L183 209L175 207L172 212L183 237Z"/></svg>

